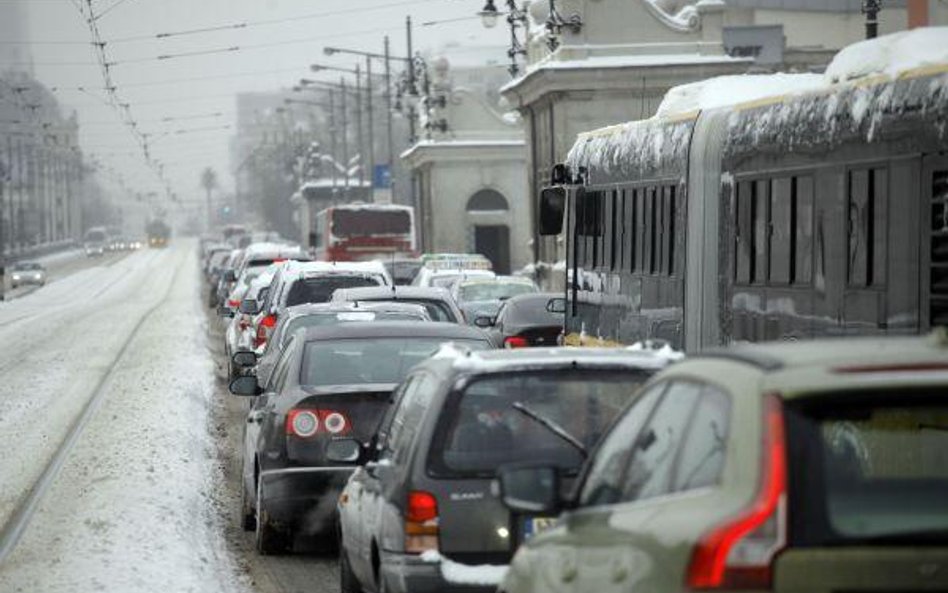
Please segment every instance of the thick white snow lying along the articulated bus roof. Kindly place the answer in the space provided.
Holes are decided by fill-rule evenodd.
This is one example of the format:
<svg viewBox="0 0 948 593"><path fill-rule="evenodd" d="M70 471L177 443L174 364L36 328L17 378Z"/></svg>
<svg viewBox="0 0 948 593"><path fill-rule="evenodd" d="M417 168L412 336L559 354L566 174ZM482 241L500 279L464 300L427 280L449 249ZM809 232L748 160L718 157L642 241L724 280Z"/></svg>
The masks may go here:
<svg viewBox="0 0 948 593"><path fill-rule="evenodd" d="M948 66L948 27L924 27L860 41L840 50L825 74L742 74L719 76L671 88L656 114L579 134L571 155L591 138L627 135L641 125L674 121L715 109L805 94L870 76L897 78L925 67ZM570 158L572 160L572 158Z"/></svg>

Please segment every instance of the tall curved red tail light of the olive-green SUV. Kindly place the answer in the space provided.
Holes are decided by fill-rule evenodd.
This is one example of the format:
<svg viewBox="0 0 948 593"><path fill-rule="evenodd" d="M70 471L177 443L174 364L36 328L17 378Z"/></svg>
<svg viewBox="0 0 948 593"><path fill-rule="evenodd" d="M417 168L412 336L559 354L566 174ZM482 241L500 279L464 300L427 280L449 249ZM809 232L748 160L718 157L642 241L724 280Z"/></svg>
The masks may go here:
<svg viewBox="0 0 948 593"><path fill-rule="evenodd" d="M688 567L692 589L770 589L772 563L784 545L786 441L780 398L764 405L764 453L757 497L738 516L712 529L695 546Z"/></svg>

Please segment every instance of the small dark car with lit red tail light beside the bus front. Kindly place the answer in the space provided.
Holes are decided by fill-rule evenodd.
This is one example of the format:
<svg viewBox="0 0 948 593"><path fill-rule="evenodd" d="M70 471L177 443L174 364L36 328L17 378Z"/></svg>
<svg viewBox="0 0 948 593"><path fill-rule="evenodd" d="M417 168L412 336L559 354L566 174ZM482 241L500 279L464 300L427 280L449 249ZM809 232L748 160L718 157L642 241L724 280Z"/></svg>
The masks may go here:
<svg viewBox="0 0 948 593"><path fill-rule="evenodd" d="M498 346L556 346L563 334L562 294L521 294L503 302L496 317L480 316L474 325L488 329Z"/></svg>

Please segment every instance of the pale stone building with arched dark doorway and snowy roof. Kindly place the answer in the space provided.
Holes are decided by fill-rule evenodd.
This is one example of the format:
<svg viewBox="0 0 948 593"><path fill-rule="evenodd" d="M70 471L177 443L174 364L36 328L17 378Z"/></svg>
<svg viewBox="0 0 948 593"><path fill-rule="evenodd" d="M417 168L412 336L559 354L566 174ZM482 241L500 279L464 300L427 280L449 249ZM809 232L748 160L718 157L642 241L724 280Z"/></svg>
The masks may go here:
<svg viewBox="0 0 948 593"><path fill-rule="evenodd" d="M523 128L503 114L496 66L460 68L434 64L434 82L422 101L422 138L402 153L411 171L422 250L481 253L508 274L530 262L529 202Z"/></svg>

